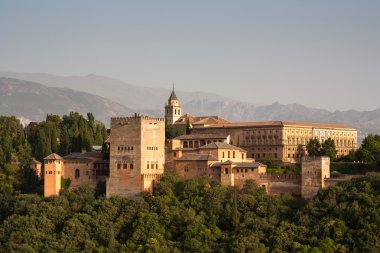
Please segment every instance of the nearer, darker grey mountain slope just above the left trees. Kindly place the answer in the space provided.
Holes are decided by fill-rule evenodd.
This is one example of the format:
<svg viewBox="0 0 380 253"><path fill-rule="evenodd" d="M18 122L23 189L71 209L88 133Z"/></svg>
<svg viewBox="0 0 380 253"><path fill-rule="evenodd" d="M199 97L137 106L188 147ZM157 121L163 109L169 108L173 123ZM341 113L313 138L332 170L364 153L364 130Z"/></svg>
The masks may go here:
<svg viewBox="0 0 380 253"><path fill-rule="evenodd" d="M46 114L63 115L71 111L83 115L92 112L105 123L111 116L132 113L123 105L89 93L0 77L0 115L15 115L25 123L43 120Z"/></svg>

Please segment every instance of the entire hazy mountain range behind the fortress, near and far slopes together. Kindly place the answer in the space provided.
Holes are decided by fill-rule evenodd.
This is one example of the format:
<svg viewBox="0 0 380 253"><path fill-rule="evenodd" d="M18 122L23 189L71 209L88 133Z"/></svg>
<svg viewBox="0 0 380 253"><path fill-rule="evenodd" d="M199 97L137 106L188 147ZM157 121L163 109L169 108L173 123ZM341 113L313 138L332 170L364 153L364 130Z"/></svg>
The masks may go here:
<svg viewBox="0 0 380 253"><path fill-rule="evenodd" d="M15 114L31 120L43 119L46 113L62 114L71 110L81 113L91 111L106 123L110 116L130 115L133 112L163 116L163 107L171 92L170 89L136 86L92 74L66 77L0 72L0 77L13 78L0 79L0 114ZM8 85L4 86L4 83ZM283 105L275 102L257 105L254 96L252 103L248 103L212 93L176 93L183 112L193 115L219 115L230 121L339 123L358 128L360 136L380 134L380 108L373 111L331 112L300 104ZM13 97L10 98L9 94Z"/></svg>

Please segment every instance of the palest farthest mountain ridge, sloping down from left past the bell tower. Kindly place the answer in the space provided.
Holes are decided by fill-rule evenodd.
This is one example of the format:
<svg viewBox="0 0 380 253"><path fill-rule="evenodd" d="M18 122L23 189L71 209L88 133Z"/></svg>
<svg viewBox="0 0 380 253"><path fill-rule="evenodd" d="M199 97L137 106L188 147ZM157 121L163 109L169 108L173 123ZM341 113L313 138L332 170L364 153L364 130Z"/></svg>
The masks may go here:
<svg viewBox="0 0 380 253"><path fill-rule="evenodd" d="M66 87L73 90L88 92L94 95L111 99L141 113L157 116L163 115L165 102L169 98L170 89L152 88L128 84L113 78L87 75L87 76L55 76L49 74L0 72L0 76L28 80L41 83L49 87ZM204 92L176 91L184 105L196 104L201 101L208 102L238 102L233 99Z"/></svg>

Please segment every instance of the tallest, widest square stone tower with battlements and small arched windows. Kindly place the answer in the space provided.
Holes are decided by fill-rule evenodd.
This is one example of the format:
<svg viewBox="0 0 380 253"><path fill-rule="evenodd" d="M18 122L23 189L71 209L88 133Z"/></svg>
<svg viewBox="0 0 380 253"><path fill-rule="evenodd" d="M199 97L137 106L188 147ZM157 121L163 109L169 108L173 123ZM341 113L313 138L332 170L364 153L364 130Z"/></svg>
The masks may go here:
<svg viewBox="0 0 380 253"><path fill-rule="evenodd" d="M107 197L152 191L164 174L165 121L135 116L111 118Z"/></svg>

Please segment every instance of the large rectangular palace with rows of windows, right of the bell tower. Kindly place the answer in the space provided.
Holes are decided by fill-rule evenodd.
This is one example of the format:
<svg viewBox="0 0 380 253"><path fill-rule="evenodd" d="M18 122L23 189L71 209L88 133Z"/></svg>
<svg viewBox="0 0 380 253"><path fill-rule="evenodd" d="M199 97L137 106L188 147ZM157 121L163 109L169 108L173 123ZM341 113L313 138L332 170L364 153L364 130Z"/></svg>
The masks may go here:
<svg viewBox="0 0 380 253"><path fill-rule="evenodd" d="M336 124L272 121L191 128L191 134L206 133L230 135L232 144L244 148L248 156L257 160L271 157L285 163L300 162L307 156L306 145L312 139L321 143L328 138L333 139L337 157L357 149L357 130Z"/></svg>

